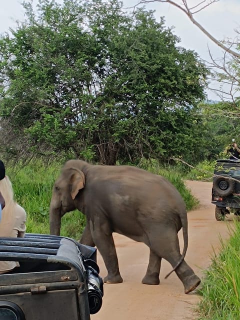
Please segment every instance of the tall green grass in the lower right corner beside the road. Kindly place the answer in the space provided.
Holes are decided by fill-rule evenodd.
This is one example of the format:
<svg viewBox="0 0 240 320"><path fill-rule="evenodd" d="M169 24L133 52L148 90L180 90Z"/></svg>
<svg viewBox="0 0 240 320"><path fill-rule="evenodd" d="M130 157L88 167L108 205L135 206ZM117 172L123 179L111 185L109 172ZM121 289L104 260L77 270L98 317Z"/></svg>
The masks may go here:
<svg viewBox="0 0 240 320"><path fill-rule="evenodd" d="M235 221L231 237L221 241L220 253L212 257L199 293L199 320L236 320L240 318L240 224Z"/></svg>

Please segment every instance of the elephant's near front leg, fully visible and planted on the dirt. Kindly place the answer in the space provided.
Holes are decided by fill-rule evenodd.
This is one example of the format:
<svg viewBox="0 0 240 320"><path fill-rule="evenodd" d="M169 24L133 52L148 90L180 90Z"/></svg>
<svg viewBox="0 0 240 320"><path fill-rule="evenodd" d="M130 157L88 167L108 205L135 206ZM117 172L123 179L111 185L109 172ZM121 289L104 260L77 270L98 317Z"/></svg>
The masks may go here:
<svg viewBox="0 0 240 320"><path fill-rule="evenodd" d="M95 217L94 221L90 220L90 231L107 269L107 275L103 281L106 283L122 282L112 231L110 230L108 222L101 220L99 217Z"/></svg>

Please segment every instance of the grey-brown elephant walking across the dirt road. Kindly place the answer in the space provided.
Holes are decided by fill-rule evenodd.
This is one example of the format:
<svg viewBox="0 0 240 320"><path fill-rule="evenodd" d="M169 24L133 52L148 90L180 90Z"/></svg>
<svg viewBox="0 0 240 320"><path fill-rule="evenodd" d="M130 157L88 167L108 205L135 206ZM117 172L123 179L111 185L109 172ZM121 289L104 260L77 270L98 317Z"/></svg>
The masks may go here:
<svg viewBox="0 0 240 320"><path fill-rule="evenodd" d="M131 165L90 164L70 159L55 180L49 208L50 233L59 235L61 217L78 209L86 217L80 243L96 246L107 269L105 283L120 283L113 232L149 247L144 284L159 284L161 259L166 259L189 293L200 283L185 262L187 212L178 190L163 176ZM182 227L180 253L177 233Z"/></svg>

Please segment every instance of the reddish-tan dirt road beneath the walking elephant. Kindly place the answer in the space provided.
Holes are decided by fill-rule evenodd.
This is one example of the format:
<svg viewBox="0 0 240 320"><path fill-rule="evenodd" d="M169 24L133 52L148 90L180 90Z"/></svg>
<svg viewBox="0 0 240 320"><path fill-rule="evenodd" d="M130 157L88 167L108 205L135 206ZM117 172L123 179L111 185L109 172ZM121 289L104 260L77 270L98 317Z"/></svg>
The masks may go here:
<svg viewBox="0 0 240 320"><path fill-rule="evenodd" d="M231 222L215 220L214 205L210 203L210 182L186 181L186 185L199 199L200 206L188 212L189 244L185 260L202 278L202 271L211 262L212 247L218 250L219 235L228 238L227 224ZM181 230L178 236L182 248ZM183 285L175 273L164 279L171 269L167 261L162 260L159 285L141 284L148 264L148 247L119 234L114 234L114 241L123 283L104 284L102 308L91 315L91 319L192 320L196 317L193 308L199 295L184 294ZM106 269L100 255L97 259L103 277Z"/></svg>

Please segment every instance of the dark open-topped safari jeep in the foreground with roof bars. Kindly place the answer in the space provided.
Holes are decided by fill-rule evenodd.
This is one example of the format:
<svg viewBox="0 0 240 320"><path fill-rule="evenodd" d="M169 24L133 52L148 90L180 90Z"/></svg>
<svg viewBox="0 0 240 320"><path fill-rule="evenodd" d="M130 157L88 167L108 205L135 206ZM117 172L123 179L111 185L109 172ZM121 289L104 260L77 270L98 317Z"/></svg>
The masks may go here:
<svg viewBox="0 0 240 320"><path fill-rule="evenodd" d="M0 274L0 320L89 320L102 305L93 247L61 236L26 234L0 238L0 260L19 262Z"/></svg>

